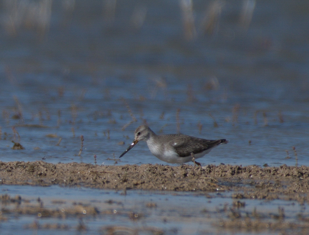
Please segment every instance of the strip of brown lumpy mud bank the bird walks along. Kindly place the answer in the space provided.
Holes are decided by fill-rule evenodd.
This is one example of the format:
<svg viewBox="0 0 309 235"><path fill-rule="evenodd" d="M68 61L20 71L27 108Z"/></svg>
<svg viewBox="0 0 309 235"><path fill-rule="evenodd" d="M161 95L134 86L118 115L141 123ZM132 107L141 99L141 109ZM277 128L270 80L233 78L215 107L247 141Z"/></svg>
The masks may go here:
<svg viewBox="0 0 309 235"><path fill-rule="evenodd" d="M99 166L86 163L0 162L0 183L114 190L232 191L235 199L309 199L309 167L208 165Z"/></svg>

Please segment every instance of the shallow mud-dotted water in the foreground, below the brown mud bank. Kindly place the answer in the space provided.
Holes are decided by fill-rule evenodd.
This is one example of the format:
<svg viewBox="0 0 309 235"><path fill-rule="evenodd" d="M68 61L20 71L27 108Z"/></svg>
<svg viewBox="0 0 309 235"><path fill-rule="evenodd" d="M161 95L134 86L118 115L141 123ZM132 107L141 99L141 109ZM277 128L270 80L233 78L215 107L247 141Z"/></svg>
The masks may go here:
<svg viewBox="0 0 309 235"><path fill-rule="evenodd" d="M260 221L276 222L278 208L283 208L284 222L296 222L298 215L308 214L308 209L298 203L282 200L241 200L244 206L235 208L235 200L229 193L201 192L146 192L130 190L112 191L89 188L30 187L30 186L0 186L1 194L15 198L21 196L19 204L2 201L1 215L6 220L1 222L3 234L51 234L62 231L66 234L108 234L106 228L120 226L126 233L137 229L138 234L230 234L233 230L222 230L220 221L230 217L230 210L235 210L242 216L253 211L259 213ZM36 213L14 213L14 208L39 207ZM9 213L6 210L12 209ZM44 214L44 208L61 210L65 216ZM72 209L74 208L74 209ZM95 208L95 215L88 215L87 208ZM40 209L42 212L40 212ZM70 214L70 211L74 214ZM29 211L29 209L28 209ZM91 213L91 212L90 212ZM247 215L247 216L248 216ZM273 215L273 219L272 219ZM282 221L283 222L283 221ZM78 229L83 224L85 229ZM60 228L50 228L58 225ZM34 227L37 226L37 227ZM41 227L39 227L41 226ZM47 228L47 226L50 226ZM125 227L125 228L123 228ZM235 233L235 232L234 232ZM122 233L121 233L122 234ZM243 232L237 234L251 234ZM261 230L259 234L276 234Z"/></svg>

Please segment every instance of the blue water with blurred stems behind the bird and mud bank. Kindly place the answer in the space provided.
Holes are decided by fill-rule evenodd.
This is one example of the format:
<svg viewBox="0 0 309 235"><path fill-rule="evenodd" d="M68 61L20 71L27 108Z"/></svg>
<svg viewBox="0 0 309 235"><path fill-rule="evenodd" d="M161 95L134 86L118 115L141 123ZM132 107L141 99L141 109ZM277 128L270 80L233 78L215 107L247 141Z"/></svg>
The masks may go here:
<svg viewBox="0 0 309 235"><path fill-rule="evenodd" d="M307 164L308 29L307 1L2 0L0 160L166 164L117 160L146 123L230 141L202 165Z"/></svg>

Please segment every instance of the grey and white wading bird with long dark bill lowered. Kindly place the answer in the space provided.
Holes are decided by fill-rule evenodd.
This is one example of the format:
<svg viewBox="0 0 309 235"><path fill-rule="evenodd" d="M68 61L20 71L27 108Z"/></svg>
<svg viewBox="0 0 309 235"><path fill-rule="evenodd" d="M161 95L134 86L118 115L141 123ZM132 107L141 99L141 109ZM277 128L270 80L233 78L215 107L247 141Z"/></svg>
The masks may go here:
<svg viewBox="0 0 309 235"><path fill-rule="evenodd" d="M150 152L157 158L168 163L187 163L201 158L220 144L226 144L226 139L207 140L184 134L157 135L148 126L136 128L133 143L120 155L125 155L138 141L146 141Z"/></svg>

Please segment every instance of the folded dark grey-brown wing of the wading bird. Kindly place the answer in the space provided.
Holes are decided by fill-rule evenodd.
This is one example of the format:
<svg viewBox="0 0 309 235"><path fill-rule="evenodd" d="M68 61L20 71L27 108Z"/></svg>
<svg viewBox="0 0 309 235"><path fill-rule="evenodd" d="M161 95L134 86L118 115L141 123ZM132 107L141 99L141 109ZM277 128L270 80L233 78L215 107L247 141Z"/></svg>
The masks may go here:
<svg viewBox="0 0 309 235"><path fill-rule="evenodd" d="M191 153L201 153L221 143L227 143L225 139L206 140L188 135L181 135L178 137L179 138L175 138L174 136L174 139L170 141L170 143L175 148L175 151L179 154L180 157L190 156Z"/></svg>

